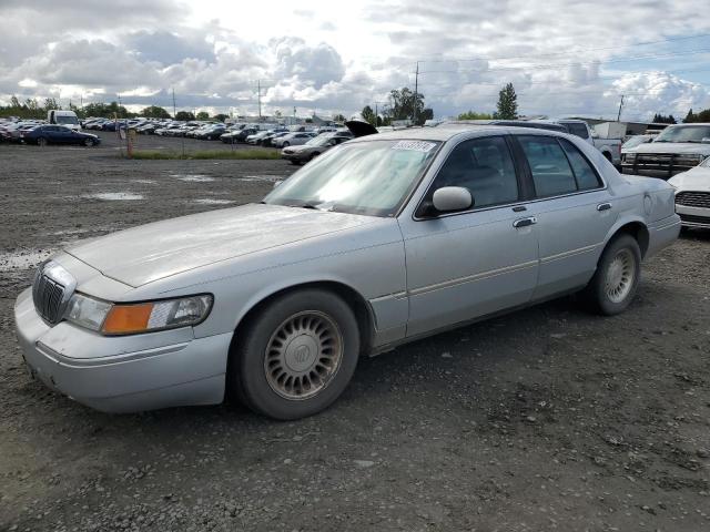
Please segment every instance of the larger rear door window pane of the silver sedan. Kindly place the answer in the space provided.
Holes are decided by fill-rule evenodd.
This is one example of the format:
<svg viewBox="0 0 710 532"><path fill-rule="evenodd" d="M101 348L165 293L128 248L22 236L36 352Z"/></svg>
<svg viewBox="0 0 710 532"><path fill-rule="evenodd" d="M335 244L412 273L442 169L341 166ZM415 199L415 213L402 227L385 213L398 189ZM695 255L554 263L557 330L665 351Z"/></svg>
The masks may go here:
<svg viewBox="0 0 710 532"><path fill-rule="evenodd" d="M518 136L530 165L538 197L577 192L577 182L567 156L556 139L550 136Z"/></svg>

